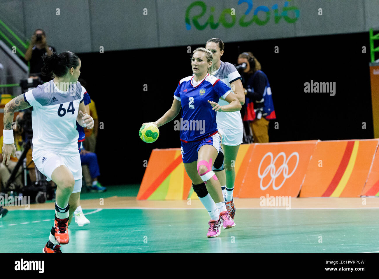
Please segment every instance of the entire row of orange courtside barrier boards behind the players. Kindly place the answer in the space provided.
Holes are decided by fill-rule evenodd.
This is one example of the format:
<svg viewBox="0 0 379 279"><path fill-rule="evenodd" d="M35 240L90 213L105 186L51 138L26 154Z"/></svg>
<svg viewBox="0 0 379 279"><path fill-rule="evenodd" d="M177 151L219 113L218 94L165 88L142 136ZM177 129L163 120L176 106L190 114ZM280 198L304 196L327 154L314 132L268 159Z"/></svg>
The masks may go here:
<svg viewBox="0 0 379 279"><path fill-rule="evenodd" d="M234 197L379 195L379 139L242 144ZM137 200L198 199L180 148L154 149Z"/></svg>

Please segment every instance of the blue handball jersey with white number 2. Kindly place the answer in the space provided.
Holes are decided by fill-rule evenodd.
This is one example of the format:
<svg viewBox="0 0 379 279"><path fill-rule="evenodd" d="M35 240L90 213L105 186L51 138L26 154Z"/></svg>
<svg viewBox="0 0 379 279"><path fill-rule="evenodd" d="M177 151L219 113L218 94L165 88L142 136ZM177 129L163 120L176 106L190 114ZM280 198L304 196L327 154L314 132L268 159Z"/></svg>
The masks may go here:
<svg viewBox="0 0 379 279"><path fill-rule="evenodd" d="M180 80L174 98L182 103L180 140L193 142L218 131L216 112L209 101L218 103L219 98L231 92L230 88L214 76L207 76L194 85L194 76Z"/></svg>

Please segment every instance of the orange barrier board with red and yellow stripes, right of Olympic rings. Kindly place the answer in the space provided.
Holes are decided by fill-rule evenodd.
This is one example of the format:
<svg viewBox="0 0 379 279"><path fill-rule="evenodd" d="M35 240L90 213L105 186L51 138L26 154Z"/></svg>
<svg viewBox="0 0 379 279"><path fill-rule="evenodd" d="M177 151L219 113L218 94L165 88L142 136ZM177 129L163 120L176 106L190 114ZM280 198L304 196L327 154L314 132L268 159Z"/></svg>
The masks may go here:
<svg viewBox="0 0 379 279"><path fill-rule="evenodd" d="M378 142L378 139L318 142L300 197L359 197Z"/></svg>

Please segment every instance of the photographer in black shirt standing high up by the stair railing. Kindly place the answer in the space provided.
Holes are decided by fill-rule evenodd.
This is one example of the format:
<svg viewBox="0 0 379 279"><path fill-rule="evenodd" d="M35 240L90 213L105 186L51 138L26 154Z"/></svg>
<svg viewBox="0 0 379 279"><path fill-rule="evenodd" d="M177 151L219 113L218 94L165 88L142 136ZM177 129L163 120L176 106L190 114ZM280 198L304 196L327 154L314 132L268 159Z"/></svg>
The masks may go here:
<svg viewBox="0 0 379 279"><path fill-rule="evenodd" d="M30 45L25 52L25 60L30 61L30 73L38 74L45 82L50 81L50 77L41 74L41 69L44 66L42 55L50 56L53 52L56 52L56 50L46 43L45 31L42 29L34 31Z"/></svg>

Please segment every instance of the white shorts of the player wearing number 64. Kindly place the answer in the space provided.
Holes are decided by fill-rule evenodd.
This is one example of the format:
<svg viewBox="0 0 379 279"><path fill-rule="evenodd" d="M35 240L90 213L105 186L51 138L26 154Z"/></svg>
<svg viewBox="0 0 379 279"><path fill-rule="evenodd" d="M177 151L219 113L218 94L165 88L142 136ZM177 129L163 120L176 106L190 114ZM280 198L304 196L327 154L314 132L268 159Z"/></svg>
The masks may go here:
<svg viewBox="0 0 379 279"><path fill-rule="evenodd" d="M59 166L66 166L74 176L75 186L73 193L81 191L81 183L78 180L82 179L80 154L75 156L61 156L58 153L50 150L36 150L33 152L33 161L37 169L47 177L47 181L51 180L53 171Z"/></svg>

